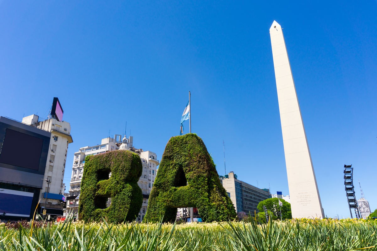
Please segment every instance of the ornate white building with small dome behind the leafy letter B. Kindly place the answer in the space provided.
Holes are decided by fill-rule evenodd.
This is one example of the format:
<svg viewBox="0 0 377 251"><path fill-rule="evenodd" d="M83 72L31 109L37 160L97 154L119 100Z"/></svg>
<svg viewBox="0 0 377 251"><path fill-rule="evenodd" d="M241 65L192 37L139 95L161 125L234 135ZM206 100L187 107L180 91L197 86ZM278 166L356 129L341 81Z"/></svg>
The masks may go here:
<svg viewBox="0 0 377 251"><path fill-rule="evenodd" d="M143 149L137 149L133 147L133 137L126 136L121 140L121 135L116 134L114 138L103 138L101 145L97 146L85 146L80 148L79 151L74 154L74 161L72 166L72 176L69 189L69 197L67 198L67 212L77 214L78 211L78 199L81 190L81 179L83 176L85 157L88 155L96 155L109 151L126 150L132 151L138 154L141 158L143 165L143 172L138 181L138 185L143 193L143 204L139 212L139 220L142 221L148 205L148 198L153 183L155 182L157 166L159 161L157 155L151 151L143 151Z"/></svg>

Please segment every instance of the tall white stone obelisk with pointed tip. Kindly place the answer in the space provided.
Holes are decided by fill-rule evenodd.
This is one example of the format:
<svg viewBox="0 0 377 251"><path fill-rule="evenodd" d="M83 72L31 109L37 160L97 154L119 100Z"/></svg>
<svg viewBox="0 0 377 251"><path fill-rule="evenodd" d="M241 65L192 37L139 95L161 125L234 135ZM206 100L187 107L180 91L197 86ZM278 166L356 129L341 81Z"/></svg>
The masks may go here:
<svg viewBox="0 0 377 251"><path fill-rule="evenodd" d="M270 28L292 218L324 218L282 27Z"/></svg>

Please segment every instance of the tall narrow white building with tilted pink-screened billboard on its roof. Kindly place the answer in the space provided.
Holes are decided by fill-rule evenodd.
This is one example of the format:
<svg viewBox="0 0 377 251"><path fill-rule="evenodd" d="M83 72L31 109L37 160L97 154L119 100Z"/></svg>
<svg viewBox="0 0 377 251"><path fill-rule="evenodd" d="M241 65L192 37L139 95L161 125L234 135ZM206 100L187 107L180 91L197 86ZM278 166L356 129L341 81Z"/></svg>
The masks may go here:
<svg viewBox="0 0 377 251"><path fill-rule="evenodd" d="M41 213L46 204L47 214L51 216L62 216L63 183L66 167L68 144L72 143L70 135L70 124L65 121L48 119L38 122L39 116L30 115L22 119L22 123L35 126L39 129L51 132L50 151L47 157L46 170L44 172L43 188L40 193L38 212ZM49 183L48 183L48 181ZM46 200L47 196L47 200Z"/></svg>

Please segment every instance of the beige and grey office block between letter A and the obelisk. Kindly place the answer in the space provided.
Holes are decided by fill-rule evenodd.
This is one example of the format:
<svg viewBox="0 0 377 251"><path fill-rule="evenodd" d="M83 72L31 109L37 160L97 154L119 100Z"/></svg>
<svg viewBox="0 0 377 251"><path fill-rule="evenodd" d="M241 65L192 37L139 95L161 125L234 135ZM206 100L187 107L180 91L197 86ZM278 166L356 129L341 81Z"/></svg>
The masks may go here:
<svg viewBox="0 0 377 251"><path fill-rule="evenodd" d="M225 176L220 175L219 178L237 213L244 211L246 214L250 212L253 215L254 210L258 212L257 205L259 202L271 198L271 193L268 189L260 189L240 181L233 172Z"/></svg>

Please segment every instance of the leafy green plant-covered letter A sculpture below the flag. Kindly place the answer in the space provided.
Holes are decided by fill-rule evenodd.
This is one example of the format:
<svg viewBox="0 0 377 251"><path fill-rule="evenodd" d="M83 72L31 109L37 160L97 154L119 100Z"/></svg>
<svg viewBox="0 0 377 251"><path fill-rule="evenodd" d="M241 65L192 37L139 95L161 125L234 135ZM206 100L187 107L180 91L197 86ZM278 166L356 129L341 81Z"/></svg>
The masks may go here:
<svg viewBox="0 0 377 251"><path fill-rule="evenodd" d="M179 207L197 207L205 222L237 216L215 163L196 134L172 137L167 143L144 221L172 222Z"/></svg>

